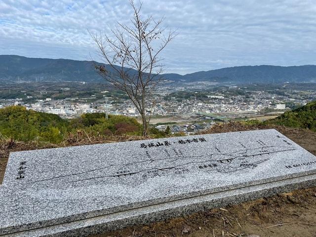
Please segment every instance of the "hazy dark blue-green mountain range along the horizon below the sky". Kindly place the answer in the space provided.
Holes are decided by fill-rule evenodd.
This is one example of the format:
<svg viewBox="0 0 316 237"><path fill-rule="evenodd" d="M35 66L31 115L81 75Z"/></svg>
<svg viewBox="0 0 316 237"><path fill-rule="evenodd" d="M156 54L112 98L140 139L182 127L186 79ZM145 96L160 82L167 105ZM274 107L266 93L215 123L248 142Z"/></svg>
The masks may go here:
<svg viewBox="0 0 316 237"><path fill-rule="evenodd" d="M105 65L106 68L110 68ZM186 75L176 73L163 74L165 79L175 83L183 82L231 82L248 83L284 83L315 82L316 66L241 66L198 71ZM0 80L21 81L85 81L100 82L92 61L69 59L27 58L17 55L0 55Z"/></svg>

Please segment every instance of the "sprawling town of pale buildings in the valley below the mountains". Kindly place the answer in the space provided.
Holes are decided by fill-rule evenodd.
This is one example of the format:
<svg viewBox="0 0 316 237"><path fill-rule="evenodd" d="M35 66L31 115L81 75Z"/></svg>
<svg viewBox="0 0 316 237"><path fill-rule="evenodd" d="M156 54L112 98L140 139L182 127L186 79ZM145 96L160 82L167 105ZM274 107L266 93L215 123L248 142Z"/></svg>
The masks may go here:
<svg viewBox="0 0 316 237"><path fill-rule="evenodd" d="M0 108L27 109L75 118L102 112L135 117L139 113L128 97L105 83L27 82L0 85ZM265 120L316 100L316 83L219 84L209 81L161 83L150 97L147 114L159 130L192 134L215 121Z"/></svg>

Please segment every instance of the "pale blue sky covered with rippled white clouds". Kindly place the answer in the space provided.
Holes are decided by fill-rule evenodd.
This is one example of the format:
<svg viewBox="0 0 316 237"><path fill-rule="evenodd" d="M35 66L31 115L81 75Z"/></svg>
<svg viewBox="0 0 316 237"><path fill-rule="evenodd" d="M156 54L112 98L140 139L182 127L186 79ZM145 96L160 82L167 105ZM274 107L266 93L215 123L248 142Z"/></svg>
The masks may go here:
<svg viewBox="0 0 316 237"><path fill-rule="evenodd" d="M143 0L178 36L163 52L167 72L242 65L316 64L315 0ZM131 17L128 0L1 0L0 54L89 59L88 30Z"/></svg>

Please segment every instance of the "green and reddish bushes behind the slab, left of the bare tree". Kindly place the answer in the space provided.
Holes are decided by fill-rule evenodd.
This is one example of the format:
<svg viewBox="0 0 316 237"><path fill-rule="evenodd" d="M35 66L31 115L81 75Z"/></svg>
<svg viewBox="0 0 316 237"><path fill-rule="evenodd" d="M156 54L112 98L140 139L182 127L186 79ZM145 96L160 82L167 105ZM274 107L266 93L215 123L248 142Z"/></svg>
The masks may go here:
<svg viewBox="0 0 316 237"><path fill-rule="evenodd" d="M49 143L84 134L86 136L140 135L141 125L134 118L104 113L83 114L76 119L27 110L22 106L0 109L0 135L20 141L40 140Z"/></svg>

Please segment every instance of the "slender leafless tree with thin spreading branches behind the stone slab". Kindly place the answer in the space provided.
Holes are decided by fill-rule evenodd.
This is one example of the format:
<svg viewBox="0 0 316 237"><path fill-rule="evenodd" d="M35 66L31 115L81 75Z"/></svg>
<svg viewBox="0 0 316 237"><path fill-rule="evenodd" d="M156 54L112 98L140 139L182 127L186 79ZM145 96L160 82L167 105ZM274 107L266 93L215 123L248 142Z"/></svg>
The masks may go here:
<svg viewBox="0 0 316 237"><path fill-rule="evenodd" d="M111 34L92 34L99 56L104 65L95 65L97 71L108 82L125 92L134 103L142 117L143 135L148 135L149 97L157 84L163 79L164 65L159 53L175 37L175 31L161 26L164 18L155 21L152 16L143 18L141 7L130 0L133 8L131 24L118 23L111 29Z"/></svg>

